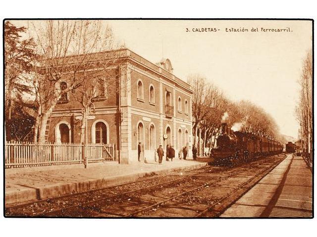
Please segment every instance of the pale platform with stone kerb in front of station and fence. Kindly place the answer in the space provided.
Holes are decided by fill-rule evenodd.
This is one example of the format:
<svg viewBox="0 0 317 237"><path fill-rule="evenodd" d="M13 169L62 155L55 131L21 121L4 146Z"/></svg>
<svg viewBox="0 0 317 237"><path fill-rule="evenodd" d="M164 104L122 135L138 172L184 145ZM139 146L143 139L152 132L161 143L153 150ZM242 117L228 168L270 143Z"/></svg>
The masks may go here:
<svg viewBox="0 0 317 237"><path fill-rule="evenodd" d="M132 182L140 177L205 166L209 158L158 163L117 161L5 169L5 206Z"/></svg>

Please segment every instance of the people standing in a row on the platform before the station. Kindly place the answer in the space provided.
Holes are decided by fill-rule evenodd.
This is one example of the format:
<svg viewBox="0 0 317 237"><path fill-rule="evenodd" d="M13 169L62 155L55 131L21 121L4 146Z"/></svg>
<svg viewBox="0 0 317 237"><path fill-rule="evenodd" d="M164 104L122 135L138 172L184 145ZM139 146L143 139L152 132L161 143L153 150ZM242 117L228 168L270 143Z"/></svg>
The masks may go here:
<svg viewBox="0 0 317 237"><path fill-rule="evenodd" d="M197 158L197 148L194 145L193 149L193 159L196 160ZM141 154L141 142L138 144L138 160L140 161L140 154ZM179 150L178 152L178 158L179 159L186 159L188 154L188 148L185 146L182 149ZM164 150L162 148L162 145L159 145L159 148L156 150L155 154L155 160L157 161L157 156L159 158L159 164L162 163L163 156L164 156ZM175 158L175 149L174 146L171 146L169 144L166 145L166 161L173 161L173 158Z"/></svg>

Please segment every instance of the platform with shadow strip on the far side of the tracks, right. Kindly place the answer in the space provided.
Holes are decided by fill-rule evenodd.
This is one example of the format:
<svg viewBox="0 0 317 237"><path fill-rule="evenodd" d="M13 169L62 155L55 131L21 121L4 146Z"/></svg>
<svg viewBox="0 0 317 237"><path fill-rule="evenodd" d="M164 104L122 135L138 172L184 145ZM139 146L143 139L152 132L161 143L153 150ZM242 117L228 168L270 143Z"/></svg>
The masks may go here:
<svg viewBox="0 0 317 237"><path fill-rule="evenodd" d="M304 159L288 155L220 217L313 217L312 183Z"/></svg>

